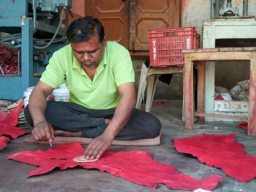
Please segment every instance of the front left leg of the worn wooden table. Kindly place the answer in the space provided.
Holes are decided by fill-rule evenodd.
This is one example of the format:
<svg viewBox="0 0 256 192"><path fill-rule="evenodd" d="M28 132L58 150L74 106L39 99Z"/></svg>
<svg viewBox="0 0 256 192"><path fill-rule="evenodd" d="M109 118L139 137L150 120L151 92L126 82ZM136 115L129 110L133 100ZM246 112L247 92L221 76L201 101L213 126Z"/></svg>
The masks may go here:
<svg viewBox="0 0 256 192"><path fill-rule="evenodd" d="M184 54L185 129L194 129L193 62L191 53Z"/></svg>

